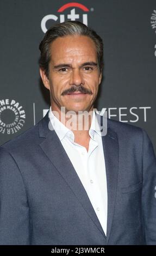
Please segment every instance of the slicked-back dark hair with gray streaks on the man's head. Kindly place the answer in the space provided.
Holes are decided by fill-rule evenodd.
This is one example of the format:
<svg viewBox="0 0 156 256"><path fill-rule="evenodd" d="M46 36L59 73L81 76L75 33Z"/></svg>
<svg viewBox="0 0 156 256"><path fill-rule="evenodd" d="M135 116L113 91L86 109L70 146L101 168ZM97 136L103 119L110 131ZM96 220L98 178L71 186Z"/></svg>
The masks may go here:
<svg viewBox="0 0 156 256"><path fill-rule="evenodd" d="M48 29L40 42L40 68L45 70L45 74L48 77L49 74L49 62L51 60L50 46L52 42L63 36L67 35L85 35L89 36L95 42L97 50L98 66L100 71L103 69L103 41L102 38L93 29L87 27L82 22L79 21L65 21L63 23L58 23Z"/></svg>

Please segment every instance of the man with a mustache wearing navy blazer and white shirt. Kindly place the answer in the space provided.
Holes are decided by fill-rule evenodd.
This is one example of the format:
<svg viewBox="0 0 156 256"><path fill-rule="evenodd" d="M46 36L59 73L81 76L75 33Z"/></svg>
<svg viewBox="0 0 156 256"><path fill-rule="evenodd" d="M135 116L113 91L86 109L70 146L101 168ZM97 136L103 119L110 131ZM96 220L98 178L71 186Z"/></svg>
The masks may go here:
<svg viewBox="0 0 156 256"><path fill-rule="evenodd" d="M93 111L102 39L80 22L64 22L47 31L40 51L51 108L0 148L0 243L155 245L152 144L142 129L113 120L103 136ZM83 113L88 129L82 120L79 129Z"/></svg>

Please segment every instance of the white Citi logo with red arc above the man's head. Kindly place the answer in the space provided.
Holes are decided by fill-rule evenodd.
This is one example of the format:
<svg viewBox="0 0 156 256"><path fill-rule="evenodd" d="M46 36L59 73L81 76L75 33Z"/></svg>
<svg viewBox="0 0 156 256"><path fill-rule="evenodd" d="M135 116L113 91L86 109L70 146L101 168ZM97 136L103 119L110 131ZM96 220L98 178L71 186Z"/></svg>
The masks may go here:
<svg viewBox="0 0 156 256"><path fill-rule="evenodd" d="M68 13L67 11L70 11ZM57 21L62 23L65 20L82 21L86 26L88 26L88 12L89 9L85 5L80 3L67 3L58 9L58 15L48 14L41 20L41 29L43 33L47 32L46 23L49 20ZM81 14L80 14L81 13Z"/></svg>

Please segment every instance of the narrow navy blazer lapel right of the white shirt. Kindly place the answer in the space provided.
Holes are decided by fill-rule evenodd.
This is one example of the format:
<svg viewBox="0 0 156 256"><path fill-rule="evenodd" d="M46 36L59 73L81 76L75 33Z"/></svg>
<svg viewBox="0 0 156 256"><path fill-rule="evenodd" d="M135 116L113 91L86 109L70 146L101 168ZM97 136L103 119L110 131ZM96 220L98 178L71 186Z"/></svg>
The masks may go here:
<svg viewBox="0 0 156 256"><path fill-rule="evenodd" d="M102 137L105 158L105 169L107 174L108 190L108 218L107 218L107 243L110 236L111 224L115 208L117 177L118 177L118 140L116 132L109 127L107 135Z"/></svg>

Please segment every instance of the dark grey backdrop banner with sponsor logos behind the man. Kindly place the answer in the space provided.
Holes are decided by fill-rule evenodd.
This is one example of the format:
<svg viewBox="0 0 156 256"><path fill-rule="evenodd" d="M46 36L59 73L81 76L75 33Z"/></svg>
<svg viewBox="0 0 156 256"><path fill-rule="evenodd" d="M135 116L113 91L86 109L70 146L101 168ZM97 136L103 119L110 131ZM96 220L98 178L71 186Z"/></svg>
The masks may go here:
<svg viewBox="0 0 156 256"><path fill-rule="evenodd" d="M140 126L156 150L155 0L0 0L0 145L49 109L39 75L39 43L54 23L79 20L104 40L104 72L95 107Z"/></svg>

